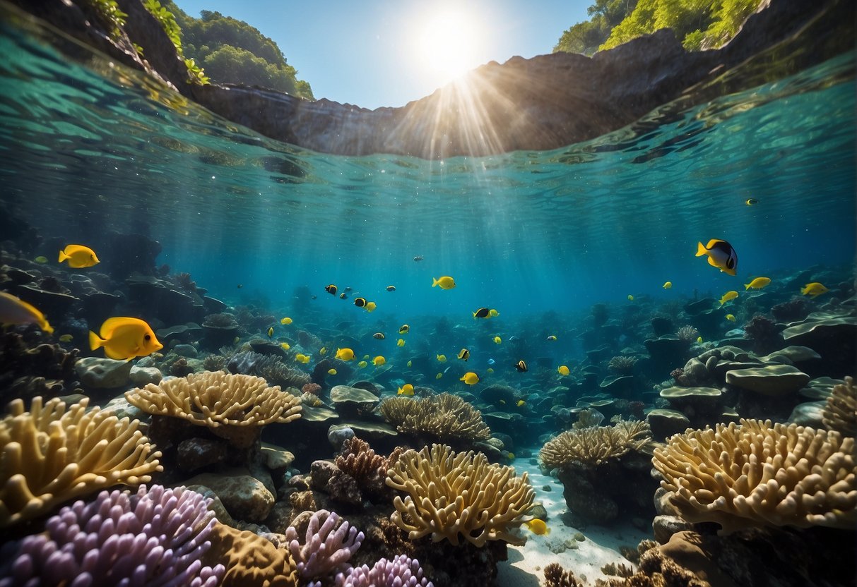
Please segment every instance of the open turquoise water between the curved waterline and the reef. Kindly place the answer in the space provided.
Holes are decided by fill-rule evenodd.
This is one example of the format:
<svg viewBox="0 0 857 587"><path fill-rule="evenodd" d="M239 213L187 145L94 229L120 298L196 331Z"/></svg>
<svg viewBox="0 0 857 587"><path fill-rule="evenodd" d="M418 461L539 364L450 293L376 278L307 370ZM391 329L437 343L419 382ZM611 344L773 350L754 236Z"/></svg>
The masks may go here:
<svg viewBox="0 0 857 587"><path fill-rule="evenodd" d="M158 264L230 304L369 329L488 306L513 335L546 311L854 261L853 55L556 151L426 161L305 151L17 29L0 44L3 201L46 239L147 234ZM737 277L694 257L711 238L735 247ZM56 256L47 240L33 254ZM431 288L441 275L458 287Z"/></svg>

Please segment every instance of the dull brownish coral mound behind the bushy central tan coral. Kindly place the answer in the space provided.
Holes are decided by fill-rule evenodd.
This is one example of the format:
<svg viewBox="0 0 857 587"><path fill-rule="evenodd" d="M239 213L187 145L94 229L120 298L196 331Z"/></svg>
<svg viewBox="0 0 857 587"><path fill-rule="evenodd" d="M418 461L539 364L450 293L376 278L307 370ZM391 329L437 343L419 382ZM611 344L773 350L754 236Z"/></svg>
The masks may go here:
<svg viewBox="0 0 857 587"><path fill-rule="evenodd" d="M388 398L379 406L387 422L399 432L428 434L442 441L487 440L491 436L482 412L458 395L437 394L419 400Z"/></svg>

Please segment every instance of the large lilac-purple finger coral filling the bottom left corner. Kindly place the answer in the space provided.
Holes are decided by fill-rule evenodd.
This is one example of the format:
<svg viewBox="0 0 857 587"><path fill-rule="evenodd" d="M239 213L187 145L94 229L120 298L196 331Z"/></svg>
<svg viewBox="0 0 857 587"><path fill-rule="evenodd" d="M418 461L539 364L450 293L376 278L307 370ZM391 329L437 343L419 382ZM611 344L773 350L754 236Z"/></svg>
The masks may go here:
<svg viewBox="0 0 857 587"><path fill-rule="evenodd" d="M47 521L45 534L21 541L0 585L215 587L224 566L201 562L217 522L207 509L210 502L195 491L160 485L75 501Z"/></svg>

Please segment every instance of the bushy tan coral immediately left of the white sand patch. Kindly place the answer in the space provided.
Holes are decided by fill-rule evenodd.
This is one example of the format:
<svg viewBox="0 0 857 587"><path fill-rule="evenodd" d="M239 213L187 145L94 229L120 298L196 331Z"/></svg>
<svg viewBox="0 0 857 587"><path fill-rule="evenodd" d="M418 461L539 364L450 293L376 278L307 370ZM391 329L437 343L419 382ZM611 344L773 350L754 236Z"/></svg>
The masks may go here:
<svg viewBox="0 0 857 587"><path fill-rule="evenodd" d="M430 534L435 543L458 545L464 537L476 547L523 543L512 531L536 495L526 472L516 477L511 466L491 465L482 453L456 454L440 444L405 451L387 471L387 485L408 494L393 500L391 519L411 540Z"/></svg>

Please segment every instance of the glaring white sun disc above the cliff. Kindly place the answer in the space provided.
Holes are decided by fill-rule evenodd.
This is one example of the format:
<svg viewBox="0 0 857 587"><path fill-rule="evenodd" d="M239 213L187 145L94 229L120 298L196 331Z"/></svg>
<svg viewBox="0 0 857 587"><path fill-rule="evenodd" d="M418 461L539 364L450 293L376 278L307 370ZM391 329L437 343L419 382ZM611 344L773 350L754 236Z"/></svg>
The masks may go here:
<svg viewBox="0 0 857 587"><path fill-rule="evenodd" d="M440 83L455 80L480 64L482 31L463 11L449 9L431 15L418 42L419 55Z"/></svg>

